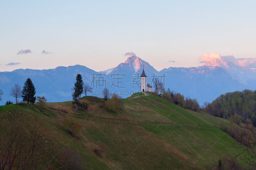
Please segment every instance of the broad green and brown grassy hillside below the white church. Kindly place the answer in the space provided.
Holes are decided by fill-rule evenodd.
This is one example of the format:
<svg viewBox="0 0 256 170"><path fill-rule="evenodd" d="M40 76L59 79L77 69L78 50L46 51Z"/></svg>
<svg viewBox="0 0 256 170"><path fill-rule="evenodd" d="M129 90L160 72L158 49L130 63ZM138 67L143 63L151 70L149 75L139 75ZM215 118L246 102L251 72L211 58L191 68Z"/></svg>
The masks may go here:
<svg viewBox="0 0 256 170"><path fill-rule="evenodd" d="M107 111L105 102L96 97L81 100L89 103L88 109L75 111L71 101L46 103L43 112L37 103L30 108L0 106L0 124L8 126L14 113L18 114L15 120L26 119L28 130L35 118L44 122L44 142L52 152L40 169L47 168L46 164L60 167L67 148L84 169L212 169L220 157L242 152L219 129L220 122L227 120L183 109L156 96L122 99L116 113ZM67 115L81 125L77 137L63 125Z"/></svg>

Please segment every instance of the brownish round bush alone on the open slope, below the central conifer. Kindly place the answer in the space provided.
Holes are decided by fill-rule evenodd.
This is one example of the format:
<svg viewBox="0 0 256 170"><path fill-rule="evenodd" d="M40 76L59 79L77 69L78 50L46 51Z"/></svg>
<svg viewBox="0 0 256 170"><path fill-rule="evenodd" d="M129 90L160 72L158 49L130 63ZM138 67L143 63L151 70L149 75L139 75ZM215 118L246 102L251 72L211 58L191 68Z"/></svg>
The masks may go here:
<svg viewBox="0 0 256 170"><path fill-rule="evenodd" d="M68 128L68 132L73 136L77 137L82 128L82 125L74 119L73 115L68 114L65 116L65 119L62 121L63 126Z"/></svg>

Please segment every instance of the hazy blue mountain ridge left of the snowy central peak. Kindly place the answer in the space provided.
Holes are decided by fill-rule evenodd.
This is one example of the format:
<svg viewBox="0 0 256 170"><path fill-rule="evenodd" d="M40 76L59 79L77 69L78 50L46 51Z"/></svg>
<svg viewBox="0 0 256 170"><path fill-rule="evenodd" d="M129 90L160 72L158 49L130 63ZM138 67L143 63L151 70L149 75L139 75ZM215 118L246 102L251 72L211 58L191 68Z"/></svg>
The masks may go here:
<svg viewBox="0 0 256 170"><path fill-rule="evenodd" d="M71 100L72 88L76 81L76 75L83 75L85 83L91 83L91 74L96 71L85 66L75 65L68 67L57 67L48 70L19 69L11 72L0 72L1 87L3 90L4 105L6 100L13 100L10 96L10 89L15 83L22 87L27 78L30 78L36 88L36 96L44 96L49 102ZM19 99L22 100L22 99Z"/></svg>

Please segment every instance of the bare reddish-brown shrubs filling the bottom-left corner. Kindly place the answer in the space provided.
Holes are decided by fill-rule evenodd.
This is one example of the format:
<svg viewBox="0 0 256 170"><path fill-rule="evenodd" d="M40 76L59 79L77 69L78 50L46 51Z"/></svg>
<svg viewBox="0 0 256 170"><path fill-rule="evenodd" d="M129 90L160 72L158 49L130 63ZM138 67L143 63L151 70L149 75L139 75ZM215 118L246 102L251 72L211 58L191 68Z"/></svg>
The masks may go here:
<svg viewBox="0 0 256 170"><path fill-rule="evenodd" d="M28 130L26 120L18 118L15 113L9 117L10 122L2 124L0 129L5 133L0 138L0 169L40 169L40 163L51 147L45 143L44 123L36 119Z"/></svg>

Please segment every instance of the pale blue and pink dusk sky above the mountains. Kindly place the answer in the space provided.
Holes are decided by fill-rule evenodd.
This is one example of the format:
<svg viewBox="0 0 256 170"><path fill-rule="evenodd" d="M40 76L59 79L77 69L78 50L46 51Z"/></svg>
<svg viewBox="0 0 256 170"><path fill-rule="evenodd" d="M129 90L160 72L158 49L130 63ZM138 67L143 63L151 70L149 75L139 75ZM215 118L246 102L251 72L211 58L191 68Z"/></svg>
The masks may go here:
<svg viewBox="0 0 256 170"><path fill-rule="evenodd" d="M1 0L0 71L76 64L102 71L125 62L127 52L158 71L221 56L256 63L255 6L254 0Z"/></svg>

